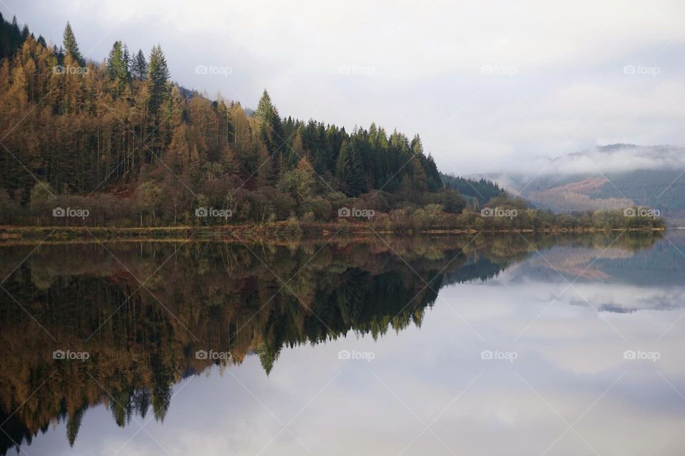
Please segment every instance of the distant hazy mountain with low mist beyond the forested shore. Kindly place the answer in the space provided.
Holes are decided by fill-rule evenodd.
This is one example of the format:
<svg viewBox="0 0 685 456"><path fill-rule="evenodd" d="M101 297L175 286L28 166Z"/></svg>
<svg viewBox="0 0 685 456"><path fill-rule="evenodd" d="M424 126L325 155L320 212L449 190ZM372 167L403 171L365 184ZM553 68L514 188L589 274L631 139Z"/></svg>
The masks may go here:
<svg viewBox="0 0 685 456"><path fill-rule="evenodd" d="M658 209L679 222L685 219L685 148L613 144L555 159L544 159L529 175L487 175L505 190L534 206L555 211ZM537 171L536 171L537 170Z"/></svg>

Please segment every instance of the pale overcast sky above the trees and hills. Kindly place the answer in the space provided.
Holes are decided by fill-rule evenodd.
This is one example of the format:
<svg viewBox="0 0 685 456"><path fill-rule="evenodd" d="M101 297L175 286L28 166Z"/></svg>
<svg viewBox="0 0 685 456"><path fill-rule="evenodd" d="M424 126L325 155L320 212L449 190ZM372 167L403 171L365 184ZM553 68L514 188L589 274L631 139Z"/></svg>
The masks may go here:
<svg viewBox="0 0 685 456"><path fill-rule="evenodd" d="M188 88L281 115L420 133L445 172L597 144L685 145L685 1L1 0L102 61L160 43ZM208 73L198 74L204 66ZM528 165L529 164L529 165ZM529 170L537 172L537 170Z"/></svg>

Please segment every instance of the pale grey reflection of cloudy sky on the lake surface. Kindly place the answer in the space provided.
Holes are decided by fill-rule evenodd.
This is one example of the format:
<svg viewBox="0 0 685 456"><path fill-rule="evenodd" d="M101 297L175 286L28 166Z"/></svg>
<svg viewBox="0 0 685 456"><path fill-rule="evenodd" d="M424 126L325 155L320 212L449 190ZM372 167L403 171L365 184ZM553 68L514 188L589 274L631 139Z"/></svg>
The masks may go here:
<svg viewBox="0 0 685 456"><path fill-rule="evenodd" d="M519 272L443 289L420 329L284 348L268 377L250 356L183 380L163 425L121 429L101 406L86 412L73 450L64 423L24 448L30 456L681 455L685 318L673 323L685 311L682 284L568 287ZM634 311L593 309L604 304ZM340 360L340 350L375 358ZM483 350L517 359L482 360ZM661 358L626 361L626 350ZM280 423L287 430L278 434Z"/></svg>

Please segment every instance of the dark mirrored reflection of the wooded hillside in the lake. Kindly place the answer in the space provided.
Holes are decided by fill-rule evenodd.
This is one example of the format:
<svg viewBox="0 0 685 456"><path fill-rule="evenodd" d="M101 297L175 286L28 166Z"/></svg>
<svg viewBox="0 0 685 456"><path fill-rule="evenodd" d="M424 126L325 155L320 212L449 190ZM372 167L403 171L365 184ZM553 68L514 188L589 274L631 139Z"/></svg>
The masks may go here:
<svg viewBox="0 0 685 456"><path fill-rule="evenodd" d="M613 240L602 236L537 235L528 241L548 249ZM377 338L391 328L419 326L443 286L491 279L533 252L515 234L470 240L250 247L261 261L242 245L227 243L108 245L118 260L97 244L40 247L3 286L58 343L2 294L0 423L9 417L3 430L11 438L1 432L0 448L4 453L13 441L31 442L51 421L66 422L73 445L85 410L97 403L106 405L119 426L150 410L163 420L173 385L218 363L196 359L200 348L230 351L230 363L255 353L269 373L284 347L348 331ZM648 244L644 238L619 239L614 247ZM0 249L0 275L9 274L31 249ZM134 276L150 277L150 291L138 289ZM51 353L57 348L88 351L91 358L55 361Z"/></svg>

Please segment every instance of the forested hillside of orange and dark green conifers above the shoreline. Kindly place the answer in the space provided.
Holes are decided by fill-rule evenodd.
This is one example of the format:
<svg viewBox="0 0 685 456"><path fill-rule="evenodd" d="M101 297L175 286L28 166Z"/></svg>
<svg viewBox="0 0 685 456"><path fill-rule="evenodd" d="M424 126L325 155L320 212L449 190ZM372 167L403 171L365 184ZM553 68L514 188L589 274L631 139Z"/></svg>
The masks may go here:
<svg viewBox="0 0 685 456"><path fill-rule="evenodd" d="M316 224L350 212L395 232L661 226L538 212L493 182L442 175L419 135L284 117L267 90L253 112L173 83L159 45L115 41L98 63L71 24L62 38L0 16L0 224Z"/></svg>

